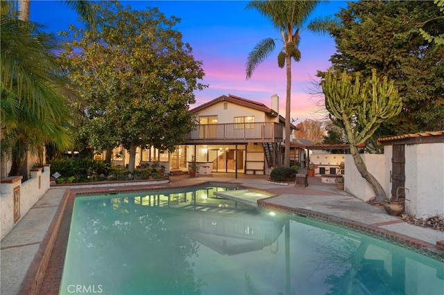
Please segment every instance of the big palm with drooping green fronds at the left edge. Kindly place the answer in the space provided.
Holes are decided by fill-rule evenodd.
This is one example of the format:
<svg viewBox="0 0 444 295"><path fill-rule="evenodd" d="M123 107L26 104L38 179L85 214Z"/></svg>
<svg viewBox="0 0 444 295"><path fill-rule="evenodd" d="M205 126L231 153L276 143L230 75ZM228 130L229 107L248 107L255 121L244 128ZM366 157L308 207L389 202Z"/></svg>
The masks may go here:
<svg viewBox="0 0 444 295"><path fill-rule="evenodd" d="M0 47L2 154L11 156L9 175L19 175L28 150L48 141L62 148L71 144L65 132L70 113L57 43L35 24L17 19L7 2L1 2Z"/></svg>

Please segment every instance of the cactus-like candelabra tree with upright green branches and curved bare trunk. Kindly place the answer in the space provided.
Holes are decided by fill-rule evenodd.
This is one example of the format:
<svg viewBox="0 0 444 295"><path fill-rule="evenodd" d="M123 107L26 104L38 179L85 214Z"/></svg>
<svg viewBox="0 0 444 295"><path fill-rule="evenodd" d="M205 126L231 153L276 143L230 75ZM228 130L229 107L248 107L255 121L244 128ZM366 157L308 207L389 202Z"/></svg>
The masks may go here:
<svg viewBox="0 0 444 295"><path fill-rule="evenodd" d="M345 130L350 143L350 154L361 176L375 191L375 202L384 202L386 194L379 181L368 172L358 151L358 145L365 143L384 121L397 116L402 108L398 90L384 77L372 77L361 84L359 73L352 79L347 71L342 75L330 69L321 81L325 94L325 107L330 117Z"/></svg>

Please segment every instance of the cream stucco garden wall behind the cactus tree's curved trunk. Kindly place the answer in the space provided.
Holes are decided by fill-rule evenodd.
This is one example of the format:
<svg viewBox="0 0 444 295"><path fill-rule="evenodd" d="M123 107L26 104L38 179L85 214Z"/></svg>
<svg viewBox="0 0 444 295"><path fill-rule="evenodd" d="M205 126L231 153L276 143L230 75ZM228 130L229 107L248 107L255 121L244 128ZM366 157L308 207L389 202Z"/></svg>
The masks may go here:
<svg viewBox="0 0 444 295"><path fill-rule="evenodd" d="M386 187L386 159L384 154L361 154L367 170L379 181L385 191ZM361 177L355 166L351 154L345 154L345 172L344 172L345 191L354 195L358 199L365 202L375 197L373 188L368 184L366 179Z"/></svg>

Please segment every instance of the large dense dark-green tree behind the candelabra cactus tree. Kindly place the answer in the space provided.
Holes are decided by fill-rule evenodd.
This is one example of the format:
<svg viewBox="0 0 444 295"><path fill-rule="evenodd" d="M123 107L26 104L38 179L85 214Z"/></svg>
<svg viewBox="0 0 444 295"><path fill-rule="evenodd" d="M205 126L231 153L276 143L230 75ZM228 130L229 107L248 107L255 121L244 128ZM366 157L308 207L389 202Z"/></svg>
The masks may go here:
<svg viewBox="0 0 444 295"><path fill-rule="evenodd" d="M402 98L399 116L382 124L376 136L444 129L444 45L427 42L422 29L444 33L444 18L433 1L358 1L336 14L327 31L336 42L336 71L377 69L393 80ZM431 20L433 21L427 21Z"/></svg>

